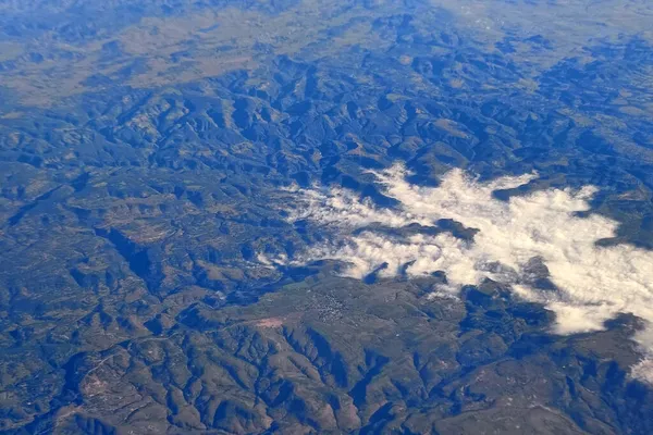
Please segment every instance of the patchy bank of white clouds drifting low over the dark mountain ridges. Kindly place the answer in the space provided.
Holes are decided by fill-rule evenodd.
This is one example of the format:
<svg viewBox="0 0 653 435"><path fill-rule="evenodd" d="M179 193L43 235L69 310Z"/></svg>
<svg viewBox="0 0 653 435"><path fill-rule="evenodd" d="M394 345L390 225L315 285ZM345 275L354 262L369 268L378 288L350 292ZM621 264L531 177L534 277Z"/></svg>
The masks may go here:
<svg viewBox="0 0 653 435"><path fill-rule="evenodd" d="M381 276L444 271L455 288L489 277L512 284L528 300L545 303L557 314L560 334L601 330L621 312L653 322L653 252L627 245L599 247L597 240L615 235L617 223L597 214L576 215L589 210L594 187L540 190L501 201L493 191L521 186L537 175L479 183L452 170L439 187L419 187L406 181L402 166L374 174L384 195L399 202L395 210L375 208L346 189L304 191L300 210L292 219L333 226L340 239L310 248L298 262L342 260L349 264L346 275L358 278L384 263ZM370 228L434 225L442 219L479 232L470 243L449 233L397 236ZM529 283L533 258L549 269L558 291ZM640 336L653 358L653 340ZM643 373L644 365L638 371ZM640 377L645 377L642 373Z"/></svg>

